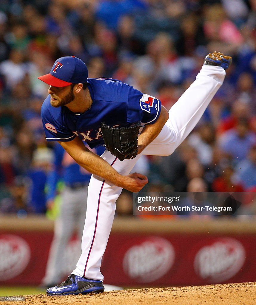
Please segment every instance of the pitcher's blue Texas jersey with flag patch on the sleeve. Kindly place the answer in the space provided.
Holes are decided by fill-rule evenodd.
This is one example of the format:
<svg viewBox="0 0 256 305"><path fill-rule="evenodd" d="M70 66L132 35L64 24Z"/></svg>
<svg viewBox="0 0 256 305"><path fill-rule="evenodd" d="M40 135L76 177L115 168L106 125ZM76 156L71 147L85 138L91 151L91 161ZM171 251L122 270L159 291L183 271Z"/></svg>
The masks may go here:
<svg viewBox="0 0 256 305"><path fill-rule="evenodd" d="M101 122L128 127L135 122L153 124L161 111L161 102L118 80L88 78L93 103L85 113L74 113L66 106L55 108L50 95L42 105L42 121L47 141L71 141L76 136L90 148L104 144Z"/></svg>

